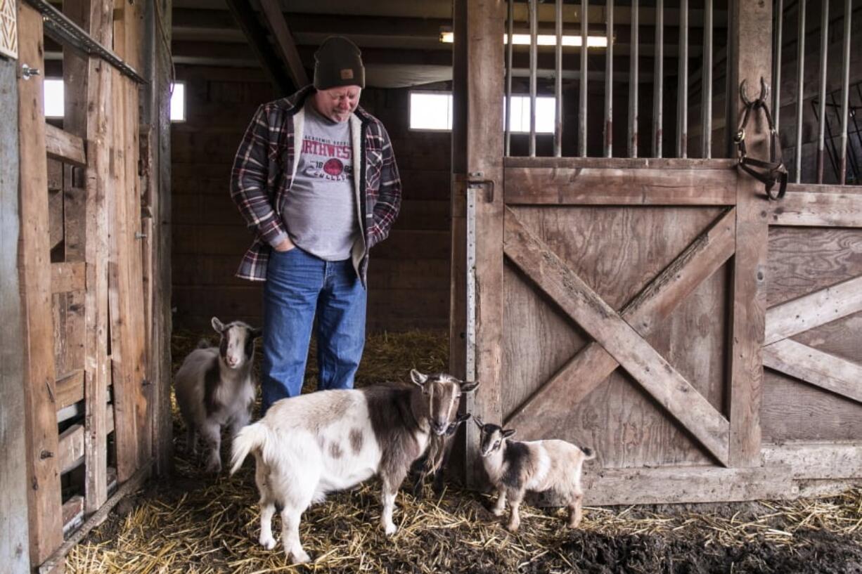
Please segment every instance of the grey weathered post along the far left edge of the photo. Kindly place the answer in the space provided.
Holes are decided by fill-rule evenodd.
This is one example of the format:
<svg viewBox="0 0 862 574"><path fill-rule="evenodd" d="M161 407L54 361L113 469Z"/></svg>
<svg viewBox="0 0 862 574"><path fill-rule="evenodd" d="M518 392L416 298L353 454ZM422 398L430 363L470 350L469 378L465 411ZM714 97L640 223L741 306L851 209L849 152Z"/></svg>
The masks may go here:
<svg viewBox="0 0 862 574"><path fill-rule="evenodd" d="M0 58L0 108L18 109L14 59ZM24 340L18 285L18 126L0 122L0 564L30 571L27 512L27 429Z"/></svg>

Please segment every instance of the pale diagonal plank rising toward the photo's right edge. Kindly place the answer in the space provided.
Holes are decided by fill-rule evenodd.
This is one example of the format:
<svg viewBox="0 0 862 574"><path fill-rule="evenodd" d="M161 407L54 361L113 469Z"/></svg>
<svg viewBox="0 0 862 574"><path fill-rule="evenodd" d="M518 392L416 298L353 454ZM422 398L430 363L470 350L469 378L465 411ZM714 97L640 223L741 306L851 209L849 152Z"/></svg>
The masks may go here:
<svg viewBox="0 0 862 574"><path fill-rule="evenodd" d="M847 279L766 311L765 345L862 311L862 276Z"/></svg>

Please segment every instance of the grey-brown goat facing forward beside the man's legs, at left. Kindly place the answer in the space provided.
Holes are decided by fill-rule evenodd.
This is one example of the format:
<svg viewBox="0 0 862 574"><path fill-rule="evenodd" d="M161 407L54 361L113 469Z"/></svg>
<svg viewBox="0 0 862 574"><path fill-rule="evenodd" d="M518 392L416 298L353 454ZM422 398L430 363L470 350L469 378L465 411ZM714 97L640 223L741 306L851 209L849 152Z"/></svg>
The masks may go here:
<svg viewBox="0 0 862 574"><path fill-rule="evenodd" d="M219 346L198 347L185 358L174 377L174 392L183 415L186 449L197 453L197 434L207 447L206 470L222 471L222 427L231 434L245 427L254 401L252 358L259 328L242 321L225 325L212 318Z"/></svg>

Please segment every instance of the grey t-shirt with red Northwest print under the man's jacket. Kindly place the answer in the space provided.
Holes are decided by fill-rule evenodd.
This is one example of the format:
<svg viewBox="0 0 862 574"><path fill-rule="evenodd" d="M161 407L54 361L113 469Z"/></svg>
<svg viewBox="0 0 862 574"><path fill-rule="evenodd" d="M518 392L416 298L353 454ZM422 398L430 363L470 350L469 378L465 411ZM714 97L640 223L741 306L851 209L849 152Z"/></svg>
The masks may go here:
<svg viewBox="0 0 862 574"><path fill-rule="evenodd" d="M359 238L350 122L335 123L305 105L303 146L282 217L294 244L321 259L350 259Z"/></svg>

